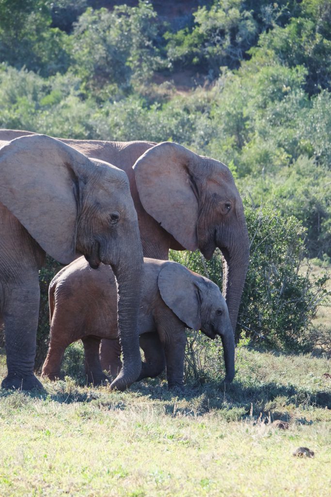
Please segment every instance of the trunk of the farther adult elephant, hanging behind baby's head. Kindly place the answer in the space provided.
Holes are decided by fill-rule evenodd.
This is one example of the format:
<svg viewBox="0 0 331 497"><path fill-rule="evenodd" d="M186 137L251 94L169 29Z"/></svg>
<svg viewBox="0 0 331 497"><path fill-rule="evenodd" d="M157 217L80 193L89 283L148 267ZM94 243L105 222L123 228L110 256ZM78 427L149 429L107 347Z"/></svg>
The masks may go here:
<svg viewBox="0 0 331 497"><path fill-rule="evenodd" d="M223 254L223 296L229 310L229 317L236 333L240 299L244 288L248 263L249 263L249 237L246 223L236 236L232 236L231 243L224 246L219 244ZM239 336L235 334L236 341Z"/></svg>

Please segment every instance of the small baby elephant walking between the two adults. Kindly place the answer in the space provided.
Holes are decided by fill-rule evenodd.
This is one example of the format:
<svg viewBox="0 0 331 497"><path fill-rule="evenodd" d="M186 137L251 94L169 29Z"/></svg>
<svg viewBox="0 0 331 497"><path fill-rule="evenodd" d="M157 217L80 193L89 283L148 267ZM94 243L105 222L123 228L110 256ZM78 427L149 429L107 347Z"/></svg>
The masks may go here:
<svg viewBox="0 0 331 497"><path fill-rule="evenodd" d="M185 328L201 330L224 349L226 382L234 377L234 336L225 300L217 285L177 262L144 258L138 316L145 354L138 379L154 377L166 367L169 387L182 386ZM101 338L116 339L117 288L110 266L91 270L84 257L52 280L49 290L51 333L42 376L60 376L66 347L81 338L88 381L108 379L99 359Z"/></svg>

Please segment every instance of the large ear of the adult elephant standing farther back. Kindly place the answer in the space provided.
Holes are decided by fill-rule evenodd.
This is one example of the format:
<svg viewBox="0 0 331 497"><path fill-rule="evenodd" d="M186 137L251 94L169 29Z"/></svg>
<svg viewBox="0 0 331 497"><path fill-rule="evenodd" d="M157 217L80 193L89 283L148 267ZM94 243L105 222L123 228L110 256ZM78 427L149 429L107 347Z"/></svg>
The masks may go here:
<svg viewBox="0 0 331 497"><path fill-rule="evenodd" d="M198 198L192 165L199 156L177 143L164 142L147 150L134 164L144 209L189 250L198 248Z"/></svg>

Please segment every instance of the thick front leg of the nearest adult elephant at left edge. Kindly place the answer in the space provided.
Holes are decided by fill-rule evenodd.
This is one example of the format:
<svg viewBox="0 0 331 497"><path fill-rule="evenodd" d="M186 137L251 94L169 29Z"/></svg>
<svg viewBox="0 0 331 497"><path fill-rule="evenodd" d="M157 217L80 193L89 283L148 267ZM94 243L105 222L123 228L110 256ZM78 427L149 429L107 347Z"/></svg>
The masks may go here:
<svg viewBox="0 0 331 497"><path fill-rule="evenodd" d="M39 300L38 273L5 290L2 312L8 374L1 383L2 388L43 388L33 374Z"/></svg>

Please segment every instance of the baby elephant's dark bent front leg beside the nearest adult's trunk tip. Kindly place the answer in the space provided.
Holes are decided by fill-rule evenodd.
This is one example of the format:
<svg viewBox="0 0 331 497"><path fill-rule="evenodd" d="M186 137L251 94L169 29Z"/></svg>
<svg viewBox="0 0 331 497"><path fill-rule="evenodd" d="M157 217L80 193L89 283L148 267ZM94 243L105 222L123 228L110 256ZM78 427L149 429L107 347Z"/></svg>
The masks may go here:
<svg viewBox="0 0 331 497"><path fill-rule="evenodd" d="M139 336L139 344L145 360L141 363L141 373L138 380L155 378L164 371L165 355L162 343L157 333L143 333Z"/></svg>

